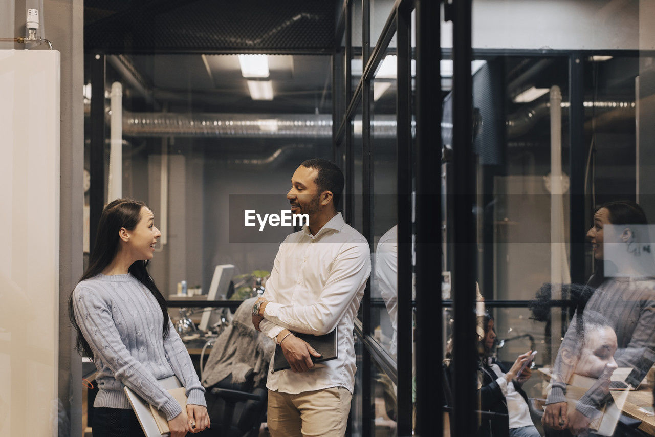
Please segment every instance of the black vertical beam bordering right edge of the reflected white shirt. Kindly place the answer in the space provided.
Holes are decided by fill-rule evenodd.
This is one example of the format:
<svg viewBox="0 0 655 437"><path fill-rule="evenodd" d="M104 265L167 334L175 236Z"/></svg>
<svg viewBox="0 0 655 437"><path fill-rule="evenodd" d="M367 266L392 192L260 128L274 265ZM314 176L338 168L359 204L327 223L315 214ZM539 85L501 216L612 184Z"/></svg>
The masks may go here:
<svg viewBox="0 0 655 437"><path fill-rule="evenodd" d="M411 2L396 14L398 43L398 436L412 435Z"/></svg>

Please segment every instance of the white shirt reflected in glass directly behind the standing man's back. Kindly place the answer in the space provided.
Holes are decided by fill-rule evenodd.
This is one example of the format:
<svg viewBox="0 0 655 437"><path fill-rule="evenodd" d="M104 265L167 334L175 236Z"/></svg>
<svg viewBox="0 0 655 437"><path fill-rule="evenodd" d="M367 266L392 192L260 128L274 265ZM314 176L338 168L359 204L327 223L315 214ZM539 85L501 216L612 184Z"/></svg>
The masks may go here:
<svg viewBox="0 0 655 437"><path fill-rule="evenodd" d="M375 249L375 278L373 287L380 293L391 320L391 343L389 353L396 356L398 337L398 225L380 238Z"/></svg>

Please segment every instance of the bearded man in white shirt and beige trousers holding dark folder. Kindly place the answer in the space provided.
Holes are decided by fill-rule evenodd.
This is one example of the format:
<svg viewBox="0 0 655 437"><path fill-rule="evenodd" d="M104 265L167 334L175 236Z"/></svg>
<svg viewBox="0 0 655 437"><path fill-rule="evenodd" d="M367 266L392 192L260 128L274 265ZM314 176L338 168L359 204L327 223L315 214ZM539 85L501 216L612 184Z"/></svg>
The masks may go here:
<svg viewBox="0 0 655 437"><path fill-rule="evenodd" d="M280 345L291 369L269 366L268 426L272 437L343 436L354 389L354 318L371 273L369 244L347 225L336 205L343 173L310 159L295 170L287 199L309 225L289 235L275 257L266 291L253 306L253 324ZM255 314L256 313L256 314ZM337 358L320 354L292 332L337 330Z"/></svg>

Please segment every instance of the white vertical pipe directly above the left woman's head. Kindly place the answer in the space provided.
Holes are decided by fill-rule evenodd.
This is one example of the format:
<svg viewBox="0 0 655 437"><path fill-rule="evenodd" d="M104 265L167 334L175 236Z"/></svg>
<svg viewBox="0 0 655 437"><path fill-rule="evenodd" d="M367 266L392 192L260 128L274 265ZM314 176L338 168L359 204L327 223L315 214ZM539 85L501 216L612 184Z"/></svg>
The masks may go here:
<svg viewBox="0 0 655 437"><path fill-rule="evenodd" d="M122 197L122 85L111 84L109 119L109 193L107 202Z"/></svg>

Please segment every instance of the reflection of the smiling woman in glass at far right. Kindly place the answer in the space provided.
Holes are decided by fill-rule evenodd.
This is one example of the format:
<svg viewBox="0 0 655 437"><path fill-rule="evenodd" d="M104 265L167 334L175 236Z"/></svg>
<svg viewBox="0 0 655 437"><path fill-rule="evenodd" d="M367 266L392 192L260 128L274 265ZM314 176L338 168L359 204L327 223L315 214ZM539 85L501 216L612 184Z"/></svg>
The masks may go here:
<svg viewBox="0 0 655 437"><path fill-rule="evenodd" d="M614 277L603 273L603 243L624 244L633 242L634 227L648 221L642 208L630 200L604 204L593 216L593 226L587 237L591 241L593 257L597 265L588 286L562 341L551 379L550 393L546 399L546 411L542 423L555 430L569 429L573 435L588 434L591 420L601 415L607 388L597 385L580 398L580 402L569 415L565 398L566 383L580 361L584 345L584 326L588 322L601 320L616 333L617 350L614 360L618 367L639 368L641 358L648 350L655 350L655 280L652 270L643 269L643 263L619 261L612 266ZM607 225L620 225L616 239L608 240ZM643 241L644 243L646 241ZM627 257L625 258L627 259ZM616 267L616 268L614 268ZM646 369L647 371L647 369Z"/></svg>

